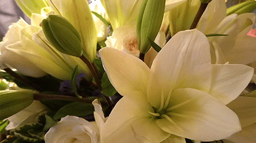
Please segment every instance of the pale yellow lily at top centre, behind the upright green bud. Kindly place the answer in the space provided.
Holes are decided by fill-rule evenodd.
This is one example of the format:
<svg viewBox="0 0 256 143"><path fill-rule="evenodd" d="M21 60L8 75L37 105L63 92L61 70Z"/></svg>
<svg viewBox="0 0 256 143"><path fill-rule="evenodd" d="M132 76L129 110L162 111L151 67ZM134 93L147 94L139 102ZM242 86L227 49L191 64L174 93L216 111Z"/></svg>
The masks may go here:
<svg viewBox="0 0 256 143"><path fill-rule="evenodd" d="M143 0L100 0L101 4L104 6L106 13L110 18L111 26L113 30L121 27L126 22L134 21L136 22L139 10ZM187 0L166 0L165 2L165 12L172 8L182 4Z"/></svg>

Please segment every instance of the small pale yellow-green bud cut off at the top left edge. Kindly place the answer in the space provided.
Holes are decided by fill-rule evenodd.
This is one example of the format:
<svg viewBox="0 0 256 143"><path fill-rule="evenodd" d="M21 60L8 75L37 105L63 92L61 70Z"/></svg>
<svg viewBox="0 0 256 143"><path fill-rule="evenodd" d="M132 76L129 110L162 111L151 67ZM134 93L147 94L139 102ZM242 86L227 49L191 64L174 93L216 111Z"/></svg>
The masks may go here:
<svg viewBox="0 0 256 143"><path fill-rule="evenodd" d="M29 18L32 13L40 14L42 8L49 7L46 0L15 0L15 2Z"/></svg>

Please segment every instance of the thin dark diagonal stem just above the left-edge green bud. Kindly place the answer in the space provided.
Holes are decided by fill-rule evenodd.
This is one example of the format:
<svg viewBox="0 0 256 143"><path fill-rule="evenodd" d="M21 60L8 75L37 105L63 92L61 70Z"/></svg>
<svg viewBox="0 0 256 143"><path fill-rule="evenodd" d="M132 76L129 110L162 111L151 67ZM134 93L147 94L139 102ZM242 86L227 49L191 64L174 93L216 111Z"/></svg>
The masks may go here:
<svg viewBox="0 0 256 143"><path fill-rule="evenodd" d="M6 73L8 73L11 76L13 76L15 78L15 80L17 80L19 82L22 82L22 83L26 84L27 86L29 86L29 87L37 90L37 91L43 91L41 87L37 86L35 83L31 82L30 80L27 80L26 78L18 75L12 69L5 68L4 70L6 71Z"/></svg>

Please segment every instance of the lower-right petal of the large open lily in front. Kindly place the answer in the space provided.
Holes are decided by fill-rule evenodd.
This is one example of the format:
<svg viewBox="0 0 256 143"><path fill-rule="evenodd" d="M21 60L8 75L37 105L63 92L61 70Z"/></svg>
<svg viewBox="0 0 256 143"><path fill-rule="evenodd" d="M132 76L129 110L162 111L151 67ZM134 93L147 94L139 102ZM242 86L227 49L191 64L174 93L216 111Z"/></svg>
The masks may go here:
<svg viewBox="0 0 256 143"><path fill-rule="evenodd" d="M236 113L203 91L192 88L176 89L170 102L172 103L167 110L172 110L166 114L175 124L166 118L156 121L168 133L193 140L212 141L241 130Z"/></svg>

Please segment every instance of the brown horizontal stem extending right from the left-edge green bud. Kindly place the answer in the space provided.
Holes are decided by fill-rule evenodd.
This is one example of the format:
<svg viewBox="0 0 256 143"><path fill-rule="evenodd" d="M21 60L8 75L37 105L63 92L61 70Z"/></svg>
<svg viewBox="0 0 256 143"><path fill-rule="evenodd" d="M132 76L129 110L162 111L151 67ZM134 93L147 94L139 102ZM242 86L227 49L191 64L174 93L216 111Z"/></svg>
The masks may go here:
<svg viewBox="0 0 256 143"><path fill-rule="evenodd" d="M63 96L63 95L56 95L56 94L41 94L41 93L34 93L34 100L65 100L65 101L77 101L77 102L84 102L84 103L92 103L93 99L86 99L82 98L79 99L77 97L70 97L70 96ZM100 102L104 106L108 106L107 102Z"/></svg>

